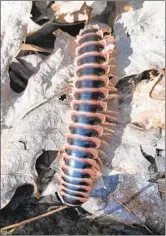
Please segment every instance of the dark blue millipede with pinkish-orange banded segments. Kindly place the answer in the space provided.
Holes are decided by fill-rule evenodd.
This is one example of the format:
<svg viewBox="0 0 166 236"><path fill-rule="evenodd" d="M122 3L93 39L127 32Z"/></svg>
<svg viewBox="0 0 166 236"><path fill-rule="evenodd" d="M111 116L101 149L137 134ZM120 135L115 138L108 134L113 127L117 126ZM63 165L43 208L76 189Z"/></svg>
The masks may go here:
<svg viewBox="0 0 166 236"><path fill-rule="evenodd" d="M68 206L86 202L102 175L104 135L111 133L115 111L107 101L118 97L115 78L115 40L110 29L88 25L76 38L75 78L70 111L70 133L60 161L61 201Z"/></svg>

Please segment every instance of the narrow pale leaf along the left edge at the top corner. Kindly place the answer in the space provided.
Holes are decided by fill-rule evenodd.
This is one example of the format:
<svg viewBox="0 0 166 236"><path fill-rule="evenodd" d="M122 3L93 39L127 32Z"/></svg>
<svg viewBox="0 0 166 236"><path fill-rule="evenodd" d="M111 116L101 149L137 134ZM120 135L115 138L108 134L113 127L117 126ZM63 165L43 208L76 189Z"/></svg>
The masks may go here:
<svg viewBox="0 0 166 236"><path fill-rule="evenodd" d="M32 2L2 1L1 7L1 81L4 83L8 78L6 70L26 38Z"/></svg>

